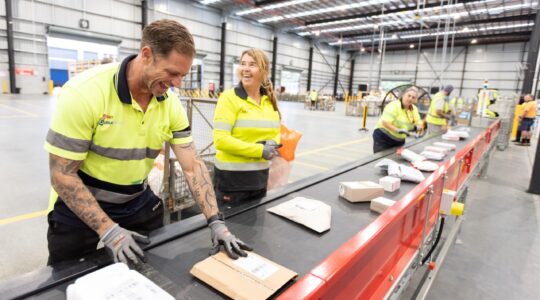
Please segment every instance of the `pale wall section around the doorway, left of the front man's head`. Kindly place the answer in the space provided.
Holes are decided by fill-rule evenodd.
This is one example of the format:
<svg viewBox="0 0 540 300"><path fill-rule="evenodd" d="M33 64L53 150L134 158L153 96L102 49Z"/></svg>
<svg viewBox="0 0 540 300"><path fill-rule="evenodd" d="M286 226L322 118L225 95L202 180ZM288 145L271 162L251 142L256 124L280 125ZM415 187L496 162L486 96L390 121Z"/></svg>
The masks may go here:
<svg viewBox="0 0 540 300"><path fill-rule="evenodd" d="M0 30L5 30L4 1L0 1ZM79 29L79 19L90 22L90 31L113 35L122 40L119 58L135 53L140 40L140 1L108 0L17 0L13 1L14 48L17 68L34 69L34 76L17 75L22 93L43 93L48 90L46 26ZM5 31L0 32L0 48L6 49ZM7 62L5 50L0 61ZM0 80L7 80L7 64L0 64ZM45 77L45 80L43 80Z"/></svg>

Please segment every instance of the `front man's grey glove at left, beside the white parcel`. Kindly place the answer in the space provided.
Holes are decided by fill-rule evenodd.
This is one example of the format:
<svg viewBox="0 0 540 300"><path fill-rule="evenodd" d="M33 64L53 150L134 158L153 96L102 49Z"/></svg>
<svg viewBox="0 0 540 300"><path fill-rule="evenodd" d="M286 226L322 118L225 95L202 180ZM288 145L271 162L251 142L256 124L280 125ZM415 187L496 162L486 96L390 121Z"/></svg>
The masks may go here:
<svg viewBox="0 0 540 300"><path fill-rule="evenodd" d="M144 261L144 252L136 242L150 244L150 239L115 223L101 236L101 242L114 262L123 262L127 265L131 261L138 265L141 260Z"/></svg>

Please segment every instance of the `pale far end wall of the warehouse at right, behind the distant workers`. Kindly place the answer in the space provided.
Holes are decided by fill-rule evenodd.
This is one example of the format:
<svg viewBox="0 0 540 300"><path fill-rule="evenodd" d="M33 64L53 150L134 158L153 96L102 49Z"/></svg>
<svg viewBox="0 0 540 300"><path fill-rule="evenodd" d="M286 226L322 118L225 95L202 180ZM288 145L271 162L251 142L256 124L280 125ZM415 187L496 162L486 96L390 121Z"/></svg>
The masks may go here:
<svg viewBox="0 0 540 300"><path fill-rule="evenodd" d="M437 78L441 75L441 70L445 70L442 84L452 84L454 93L461 93L464 97L475 96L485 79L489 80L490 88L499 89L503 95L519 93L528 47L528 43L470 45L468 49L464 46L455 47L453 51L447 50L444 65L440 48L437 53L435 49L422 50L420 54L417 49L386 52L381 80L413 81L416 74L419 86L437 87L441 85ZM467 61L464 64L466 51ZM381 56L377 52L373 58L371 53L366 52L357 55L354 72L356 88L358 84L368 83L370 69L371 86L377 86L380 60Z"/></svg>

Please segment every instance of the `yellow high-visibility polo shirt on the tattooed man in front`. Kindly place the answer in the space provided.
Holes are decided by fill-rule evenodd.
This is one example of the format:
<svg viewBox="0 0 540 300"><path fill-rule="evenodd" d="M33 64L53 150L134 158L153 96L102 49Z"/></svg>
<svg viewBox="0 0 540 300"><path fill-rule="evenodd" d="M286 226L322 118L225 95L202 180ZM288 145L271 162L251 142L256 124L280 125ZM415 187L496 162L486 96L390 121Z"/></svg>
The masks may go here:
<svg viewBox="0 0 540 300"><path fill-rule="evenodd" d="M141 195L164 142L192 142L176 94L153 97L146 112L131 97L126 73L135 57L94 67L68 81L44 145L51 154L83 161L79 176L103 202L121 204ZM56 198L53 191L51 209Z"/></svg>

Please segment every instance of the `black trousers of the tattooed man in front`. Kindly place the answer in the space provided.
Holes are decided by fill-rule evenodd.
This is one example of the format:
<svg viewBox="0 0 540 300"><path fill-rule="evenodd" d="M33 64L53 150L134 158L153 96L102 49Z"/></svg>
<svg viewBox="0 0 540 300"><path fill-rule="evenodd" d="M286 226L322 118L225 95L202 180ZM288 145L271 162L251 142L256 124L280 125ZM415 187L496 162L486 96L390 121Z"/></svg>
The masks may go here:
<svg viewBox="0 0 540 300"><path fill-rule="evenodd" d="M150 194L148 194L148 192ZM120 227L147 235L152 230L163 227L163 202L154 193L148 191L147 204L139 211L122 219L114 220ZM52 220L49 213L47 241L49 259L47 265L66 260L80 259L96 251L99 242L97 233L88 226L73 226Z"/></svg>

